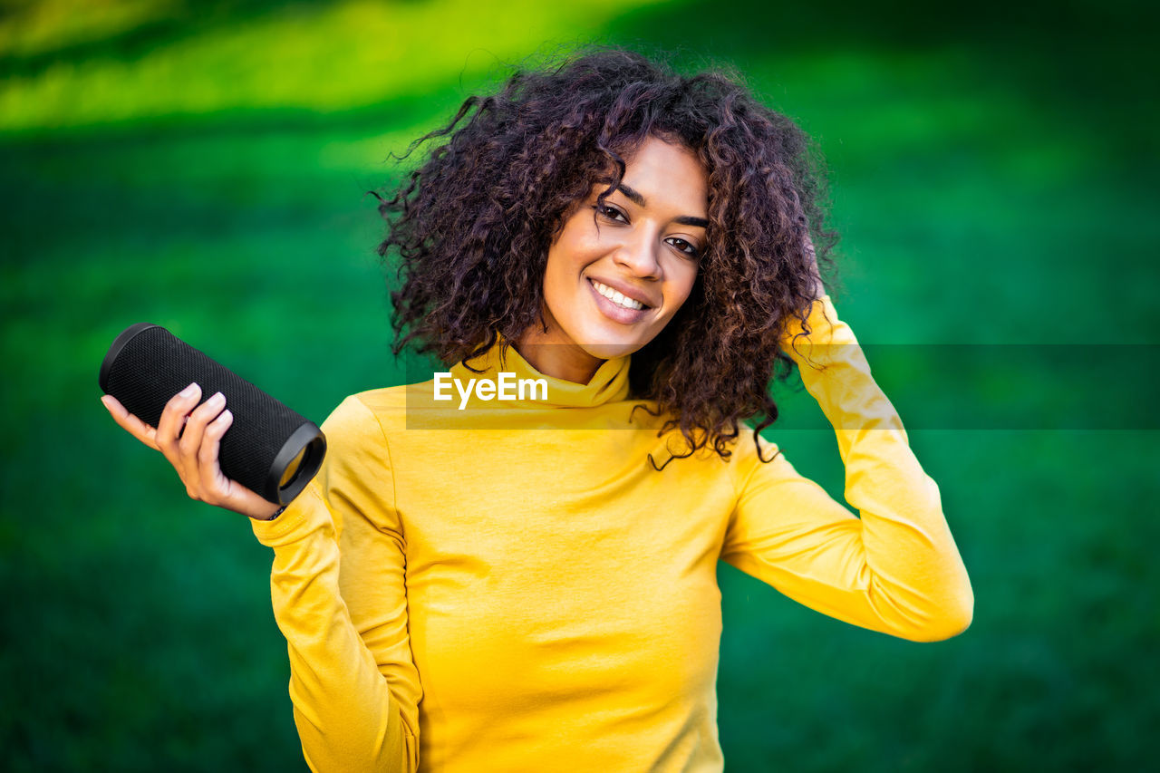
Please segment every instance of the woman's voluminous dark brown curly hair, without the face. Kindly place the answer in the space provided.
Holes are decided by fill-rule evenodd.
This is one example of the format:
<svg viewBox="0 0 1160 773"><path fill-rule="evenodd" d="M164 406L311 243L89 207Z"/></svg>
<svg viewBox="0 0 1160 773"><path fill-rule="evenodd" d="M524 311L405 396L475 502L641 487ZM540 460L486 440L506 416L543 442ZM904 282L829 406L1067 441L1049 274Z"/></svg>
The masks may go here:
<svg viewBox="0 0 1160 773"><path fill-rule="evenodd" d="M711 445L728 458L740 420L757 432L776 420L770 381L792 370L780 339L793 319L809 330L807 245L829 268L836 241L824 227L821 161L791 120L735 73L686 77L601 49L517 71L401 158L442 137L393 196L379 197L389 227L378 254L398 252L401 280L391 292L396 354L414 341L454 363L543 326L548 250L566 216L611 172L601 202L610 195L624 157L657 137L704 165L709 227L688 299L632 355L631 396L667 417L660 433L681 432L689 450L677 457Z"/></svg>

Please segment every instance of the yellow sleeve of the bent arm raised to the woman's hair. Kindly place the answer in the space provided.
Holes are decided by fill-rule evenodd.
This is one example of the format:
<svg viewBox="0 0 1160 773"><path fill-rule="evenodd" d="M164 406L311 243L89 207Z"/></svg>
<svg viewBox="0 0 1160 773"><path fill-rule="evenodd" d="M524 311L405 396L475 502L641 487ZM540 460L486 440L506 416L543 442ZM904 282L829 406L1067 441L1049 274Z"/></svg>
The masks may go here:
<svg viewBox="0 0 1160 773"><path fill-rule="evenodd" d="M913 641L938 641L971 622L973 594L943 516L890 400L828 297L811 332L783 348L838 436L846 500L861 519L778 455L738 445L737 506L722 558L833 617ZM762 455L775 448L762 439Z"/></svg>

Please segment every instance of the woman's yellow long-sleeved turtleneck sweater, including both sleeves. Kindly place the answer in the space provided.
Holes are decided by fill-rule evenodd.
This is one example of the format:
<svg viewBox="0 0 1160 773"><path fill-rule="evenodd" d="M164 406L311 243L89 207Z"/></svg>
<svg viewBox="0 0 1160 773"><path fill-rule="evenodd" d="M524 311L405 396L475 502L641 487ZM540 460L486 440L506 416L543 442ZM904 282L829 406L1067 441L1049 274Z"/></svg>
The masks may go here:
<svg viewBox="0 0 1160 773"><path fill-rule="evenodd" d="M459 411L433 382L347 398L321 472L253 523L311 768L720 771L719 559L856 626L962 631L973 599L938 489L828 298L810 324L786 349L861 519L784 456L759 461L752 431L728 462L654 470L673 436L632 412L628 357L588 384L515 349L451 369L546 378L546 400Z"/></svg>

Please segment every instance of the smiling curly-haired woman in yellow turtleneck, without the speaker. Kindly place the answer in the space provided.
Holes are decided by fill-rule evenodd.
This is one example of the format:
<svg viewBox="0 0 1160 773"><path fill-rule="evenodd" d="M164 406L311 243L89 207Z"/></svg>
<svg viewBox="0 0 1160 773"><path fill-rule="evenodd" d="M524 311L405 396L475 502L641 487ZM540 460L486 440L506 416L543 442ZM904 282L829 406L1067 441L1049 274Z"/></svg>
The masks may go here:
<svg viewBox="0 0 1160 773"><path fill-rule="evenodd" d="M383 202L380 253L399 346L456 364L345 400L285 512L223 477L220 396L190 385L155 431L104 398L274 549L313 770L722 770L718 559L887 634L970 623L938 490L820 282L790 121L604 51L423 139L447 136ZM742 424L776 418L790 361L861 519ZM546 389L472 391L501 373Z"/></svg>

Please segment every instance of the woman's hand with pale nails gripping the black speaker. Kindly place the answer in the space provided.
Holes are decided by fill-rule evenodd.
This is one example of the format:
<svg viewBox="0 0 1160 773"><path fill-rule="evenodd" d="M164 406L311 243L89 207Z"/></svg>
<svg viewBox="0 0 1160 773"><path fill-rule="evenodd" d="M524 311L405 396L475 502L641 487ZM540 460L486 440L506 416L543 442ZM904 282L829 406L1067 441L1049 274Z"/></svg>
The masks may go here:
<svg viewBox="0 0 1160 773"><path fill-rule="evenodd" d="M190 384L165 404L158 426L151 427L130 413L117 398L101 398L113 420L153 450L161 451L193 499L232 510L256 520L269 520L278 506L231 481L218 464L222 435L233 424L225 396L217 392L198 405L202 389Z"/></svg>

